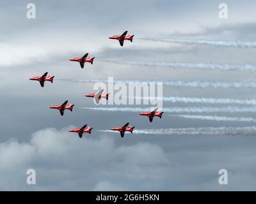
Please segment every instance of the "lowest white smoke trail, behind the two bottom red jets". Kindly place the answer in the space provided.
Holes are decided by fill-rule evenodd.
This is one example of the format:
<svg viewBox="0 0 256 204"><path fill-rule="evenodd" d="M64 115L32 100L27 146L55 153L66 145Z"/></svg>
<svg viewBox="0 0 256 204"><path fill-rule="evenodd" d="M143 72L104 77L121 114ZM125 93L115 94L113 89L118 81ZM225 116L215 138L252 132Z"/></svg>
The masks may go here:
<svg viewBox="0 0 256 204"><path fill-rule="evenodd" d="M109 130L100 130L110 133ZM212 135L212 136L254 136L256 127L221 127L221 128L170 128L170 129L134 129L134 134L145 135Z"/></svg>

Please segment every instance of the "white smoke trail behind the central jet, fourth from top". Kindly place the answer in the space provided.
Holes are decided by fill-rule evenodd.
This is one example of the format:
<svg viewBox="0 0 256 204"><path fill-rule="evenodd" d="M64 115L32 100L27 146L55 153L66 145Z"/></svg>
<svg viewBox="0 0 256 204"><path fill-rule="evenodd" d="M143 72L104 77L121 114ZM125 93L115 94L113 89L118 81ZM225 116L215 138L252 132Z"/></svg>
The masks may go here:
<svg viewBox="0 0 256 204"><path fill-rule="evenodd" d="M150 97L134 97L138 99L156 99ZM237 98L189 98L189 97L163 97L163 101L172 103L211 103L211 104L239 104L239 105L256 105L256 99L237 99Z"/></svg>

